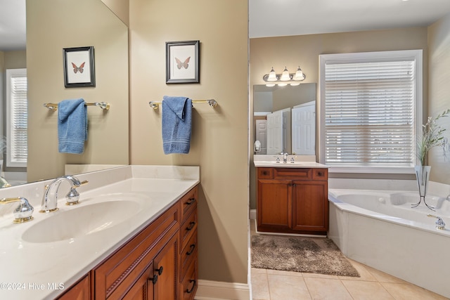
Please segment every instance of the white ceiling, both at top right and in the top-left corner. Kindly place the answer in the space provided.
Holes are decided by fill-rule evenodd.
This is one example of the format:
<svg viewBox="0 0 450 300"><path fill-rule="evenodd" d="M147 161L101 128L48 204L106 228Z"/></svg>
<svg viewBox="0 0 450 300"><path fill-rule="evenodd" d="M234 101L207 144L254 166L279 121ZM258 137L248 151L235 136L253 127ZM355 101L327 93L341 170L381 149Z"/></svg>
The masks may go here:
<svg viewBox="0 0 450 300"><path fill-rule="evenodd" d="M428 26L449 0L249 0L250 38ZM0 0L0 51L25 49L25 0Z"/></svg>

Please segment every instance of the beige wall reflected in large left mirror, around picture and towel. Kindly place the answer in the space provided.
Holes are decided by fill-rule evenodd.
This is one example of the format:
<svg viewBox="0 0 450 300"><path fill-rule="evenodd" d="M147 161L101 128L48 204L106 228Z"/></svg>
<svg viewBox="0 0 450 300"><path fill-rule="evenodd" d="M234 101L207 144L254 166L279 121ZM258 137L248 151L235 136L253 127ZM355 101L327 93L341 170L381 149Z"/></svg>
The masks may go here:
<svg viewBox="0 0 450 300"><path fill-rule="evenodd" d="M101 20L101 21L99 21ZM96 86L64 87L63 48L94 46ZM128 164L128 29L101 1L27 0L28 180L64 174L64 164ZM57 112L42 105L84 98L82 155L58 152Z"/></svg>

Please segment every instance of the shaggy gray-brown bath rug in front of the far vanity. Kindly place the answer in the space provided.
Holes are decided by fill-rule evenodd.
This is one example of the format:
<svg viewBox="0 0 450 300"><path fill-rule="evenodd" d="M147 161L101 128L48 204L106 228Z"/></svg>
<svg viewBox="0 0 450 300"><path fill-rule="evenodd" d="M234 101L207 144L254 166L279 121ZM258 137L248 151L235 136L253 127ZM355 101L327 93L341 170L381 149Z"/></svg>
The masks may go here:
<svg viewBox="0 0 450 300"><path fill-rule="evenodd" d="M359 277L328 238L252 235L252 268Z"/></svg>

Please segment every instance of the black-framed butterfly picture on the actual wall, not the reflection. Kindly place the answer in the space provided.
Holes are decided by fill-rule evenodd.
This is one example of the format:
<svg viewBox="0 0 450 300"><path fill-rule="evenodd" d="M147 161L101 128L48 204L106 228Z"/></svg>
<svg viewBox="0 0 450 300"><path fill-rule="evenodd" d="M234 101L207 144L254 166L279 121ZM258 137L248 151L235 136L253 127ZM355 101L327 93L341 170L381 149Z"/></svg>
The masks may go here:
<svg viewBox="0 0 450 300"><path fill-rule="evenodd" d="M200 83L200 41L166 42L166 83Z"/></svg>

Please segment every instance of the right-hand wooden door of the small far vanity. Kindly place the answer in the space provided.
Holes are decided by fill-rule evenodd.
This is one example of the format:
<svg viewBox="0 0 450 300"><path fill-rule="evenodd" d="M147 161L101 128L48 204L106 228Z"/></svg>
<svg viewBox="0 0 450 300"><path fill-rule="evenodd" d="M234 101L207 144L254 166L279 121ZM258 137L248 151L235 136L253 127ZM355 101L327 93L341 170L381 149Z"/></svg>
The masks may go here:
<svg viewBox="0 0 450 300"><path fill-rule="evenodd" d="M294 181L293 229L326 233L328 187L326 181Z"/></svg>

